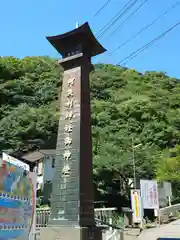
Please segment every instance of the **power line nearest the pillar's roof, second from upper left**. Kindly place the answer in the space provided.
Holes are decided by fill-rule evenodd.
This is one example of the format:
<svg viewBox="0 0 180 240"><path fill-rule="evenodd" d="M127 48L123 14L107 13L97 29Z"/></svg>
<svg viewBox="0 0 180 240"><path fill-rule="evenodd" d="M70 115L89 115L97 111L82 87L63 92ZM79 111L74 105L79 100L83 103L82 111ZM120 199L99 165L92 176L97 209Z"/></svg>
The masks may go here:
<svg viewBox="0 0 180 240"><path fill-rule="evenodd" d="M138 0L130 0L124 7L107 23L98 33L98 38L102 37L110 27L112 27L124 14L126 14L136 3Z"/></svg>

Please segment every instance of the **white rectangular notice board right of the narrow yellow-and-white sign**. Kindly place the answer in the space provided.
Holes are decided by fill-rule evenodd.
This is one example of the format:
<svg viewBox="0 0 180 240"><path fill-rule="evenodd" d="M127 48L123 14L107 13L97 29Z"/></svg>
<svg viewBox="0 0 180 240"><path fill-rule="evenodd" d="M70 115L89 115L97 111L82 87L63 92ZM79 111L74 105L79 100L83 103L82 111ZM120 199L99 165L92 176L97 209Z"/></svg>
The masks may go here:
<svg viewBox="0 0 180 240"><path fill-rule="evenodd" d="M143 209L159 209L158 184L154 180L140 180Z"/></svg>

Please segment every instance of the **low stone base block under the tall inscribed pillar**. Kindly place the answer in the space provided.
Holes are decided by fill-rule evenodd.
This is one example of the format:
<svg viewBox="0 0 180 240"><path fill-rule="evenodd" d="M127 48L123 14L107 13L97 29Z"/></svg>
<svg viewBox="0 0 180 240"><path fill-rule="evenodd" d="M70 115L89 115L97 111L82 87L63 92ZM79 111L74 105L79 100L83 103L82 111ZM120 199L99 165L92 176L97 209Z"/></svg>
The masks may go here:
<svg viewBox="0 0 180 240"><path fill-rule="evenodd" d="M41 228L40 240L102 240L102 230L97 227L48 226Z"/></svg>

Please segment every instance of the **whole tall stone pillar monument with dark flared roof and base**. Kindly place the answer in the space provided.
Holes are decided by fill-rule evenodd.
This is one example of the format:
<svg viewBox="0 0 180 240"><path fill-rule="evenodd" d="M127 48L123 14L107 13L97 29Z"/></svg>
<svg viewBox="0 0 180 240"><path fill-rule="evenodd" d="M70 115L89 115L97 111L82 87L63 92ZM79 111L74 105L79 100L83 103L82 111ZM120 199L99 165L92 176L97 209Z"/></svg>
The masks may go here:
<svg viewBox="0 0 180 240"><path fill-rule="evenodd" d="M89 72L91 57L105 49L88 23L47 37L64 68L51 218L43 240L100 239L94 222Z"/></svg>

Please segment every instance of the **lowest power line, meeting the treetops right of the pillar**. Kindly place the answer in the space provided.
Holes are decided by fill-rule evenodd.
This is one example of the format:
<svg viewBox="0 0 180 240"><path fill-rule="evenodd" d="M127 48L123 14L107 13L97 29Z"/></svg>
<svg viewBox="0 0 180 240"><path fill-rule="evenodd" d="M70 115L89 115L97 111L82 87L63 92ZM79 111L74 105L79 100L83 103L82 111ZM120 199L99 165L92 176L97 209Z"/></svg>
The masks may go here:
<svg viewBox="0 0 180 240"><path fill-rule="evenodd" d="M180 25L180 21L177 22L175 25L173 25L171 28L169 28L168 30L166 30L165 32L163 32L162 34L160 34L159 36L155 37L154 39L152 39L151 41L149 41L147 44L145 44L144 46L140 47L139 49L137 49L136 51L134 51L133 53L131 53L129 56L125 57L123 60L119 61L117 63L117 65L123 63L125 60L127 60L124 64L126 64L127 62L131 61L132 59L134 59L135 57L137 57L141 52L143 52L144 50L146 50L147 48L149 48L150 46L152 46L155 42L157 42L158 40L160 40L161 38L163 38L165 35L167 35L169 32L171 32L173 29L175 29L176 27L178 27ZM124 65L123 64L123 65Z"/></svg>

